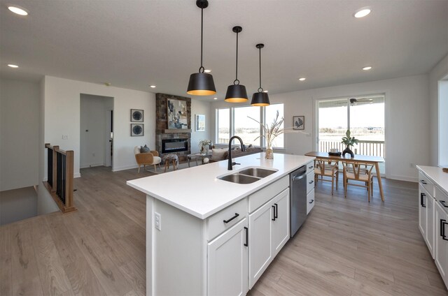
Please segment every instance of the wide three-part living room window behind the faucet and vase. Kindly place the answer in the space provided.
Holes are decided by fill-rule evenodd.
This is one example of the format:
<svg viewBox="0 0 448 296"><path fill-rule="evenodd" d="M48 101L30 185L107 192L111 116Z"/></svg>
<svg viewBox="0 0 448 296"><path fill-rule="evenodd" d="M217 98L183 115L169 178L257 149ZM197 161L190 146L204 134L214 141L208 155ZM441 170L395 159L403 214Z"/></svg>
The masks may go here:
<svg viewBox="0 0 448 296"><path fill-rule="evenodd" d="M281 119L283 117L283 104L274 104L267 107L245 106L217 109L216 143L227 145L230 137L232 137L232 135L237 135L243 140L244 145L265 147L264 138L260 138L262 133L260 124L256 121L270 125L274 121L277 111L279 112L279 119ZM274 140L274 148L283 147L283 135L279 135L279 137Z"/></svg>

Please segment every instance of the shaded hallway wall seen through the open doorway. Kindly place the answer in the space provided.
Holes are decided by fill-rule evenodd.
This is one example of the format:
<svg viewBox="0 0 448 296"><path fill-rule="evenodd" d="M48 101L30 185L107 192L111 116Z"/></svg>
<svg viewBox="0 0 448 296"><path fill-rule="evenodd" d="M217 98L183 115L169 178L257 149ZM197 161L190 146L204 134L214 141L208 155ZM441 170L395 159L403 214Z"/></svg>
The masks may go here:
<svg viewBox="0 0 448 296"><path fill-rule="evenodd" d="M107 112L113 110L113 98L80 95L80 168L106 165Z"/></svg>

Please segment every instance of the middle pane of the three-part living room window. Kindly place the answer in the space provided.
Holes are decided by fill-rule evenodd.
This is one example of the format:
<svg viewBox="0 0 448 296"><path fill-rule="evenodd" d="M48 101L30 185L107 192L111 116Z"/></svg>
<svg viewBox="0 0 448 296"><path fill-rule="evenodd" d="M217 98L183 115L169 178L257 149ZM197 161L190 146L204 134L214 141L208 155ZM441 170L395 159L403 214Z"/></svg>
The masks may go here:
<svg viewBox="0 0 448 296"><path fill-rule="evenodd" d="M260 146L260 107L239 107L234 109L233 134L243 140L244 145ZM255 140L256 139L256 140Z"/></svg>

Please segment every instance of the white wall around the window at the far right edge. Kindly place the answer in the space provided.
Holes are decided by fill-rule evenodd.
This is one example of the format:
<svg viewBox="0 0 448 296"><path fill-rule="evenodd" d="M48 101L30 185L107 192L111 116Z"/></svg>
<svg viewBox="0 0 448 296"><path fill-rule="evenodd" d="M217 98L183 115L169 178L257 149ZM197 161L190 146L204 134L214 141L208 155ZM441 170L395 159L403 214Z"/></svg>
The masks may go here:
<svg viewBox="0 0 448 296"><path fill-rule="evenodd" d="M448 75L448 55L444 57L429 73L429 108L430 108L430 165L438 165L439 133L439 87L438 82ZM448 100L448 98L446 99ZM445 115L446 117L446 115Z"/></svg>

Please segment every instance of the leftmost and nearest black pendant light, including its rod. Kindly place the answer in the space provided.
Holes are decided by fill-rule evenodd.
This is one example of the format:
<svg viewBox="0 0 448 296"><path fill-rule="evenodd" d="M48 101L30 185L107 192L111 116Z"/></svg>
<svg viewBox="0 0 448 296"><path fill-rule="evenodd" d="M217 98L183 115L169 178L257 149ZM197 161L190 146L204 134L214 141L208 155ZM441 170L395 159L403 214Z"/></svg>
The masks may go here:
<svg viewBox="0 0 448 296"><path fill-rule="evenodd" d="M199 73L190 75L188 82L187 94L193 96L211 96L216 94L215 82L213 76L209 73L204 73L204 66L202 66L202 35L204 32L204 8L209 6L207 0L197 0L196 6L201 8L201 66Z"/></svg>

